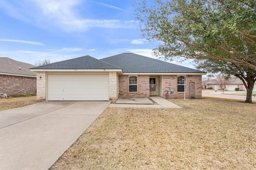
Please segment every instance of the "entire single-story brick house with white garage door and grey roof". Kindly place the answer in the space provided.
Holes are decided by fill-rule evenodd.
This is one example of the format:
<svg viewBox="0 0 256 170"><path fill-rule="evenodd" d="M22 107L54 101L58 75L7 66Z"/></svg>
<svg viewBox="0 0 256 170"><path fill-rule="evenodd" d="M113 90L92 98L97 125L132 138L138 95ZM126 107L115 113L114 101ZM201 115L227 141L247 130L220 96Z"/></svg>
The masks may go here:
<svg viewBox="0 0 256 170"><path fill-rule="evenodd" d="M106 100L118 97L202 98L206 72L122 53L104 59L90 56L30 68L37 72L37 99Z"/></svg>

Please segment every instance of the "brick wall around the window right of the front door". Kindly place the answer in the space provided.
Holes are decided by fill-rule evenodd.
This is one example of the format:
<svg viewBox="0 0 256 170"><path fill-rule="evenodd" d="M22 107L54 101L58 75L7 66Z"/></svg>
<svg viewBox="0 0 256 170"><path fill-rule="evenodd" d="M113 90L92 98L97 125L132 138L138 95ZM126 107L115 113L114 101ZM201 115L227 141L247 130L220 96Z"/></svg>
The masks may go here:
<svg viewBox="0 0 256 170"><path fill-rule="evenodd" d="M184 98L183 92L177 92L177 76L178 75L163 75L163 96L167 91L168 98ZM186 75L186 98L189 98L189 82L194 82L194 97L202 98L202 76L201 75ZM174 90L174 94L170 94Z"/></svg>

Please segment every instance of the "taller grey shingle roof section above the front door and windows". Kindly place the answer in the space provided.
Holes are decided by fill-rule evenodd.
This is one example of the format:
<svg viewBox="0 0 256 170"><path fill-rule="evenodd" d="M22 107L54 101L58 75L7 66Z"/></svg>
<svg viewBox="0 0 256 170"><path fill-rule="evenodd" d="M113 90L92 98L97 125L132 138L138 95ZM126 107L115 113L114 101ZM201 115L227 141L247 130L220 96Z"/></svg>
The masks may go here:
<svg viewBox="0 0 256 170"><path fill-rule="evenodd" d="M204 73L200 70L167 63L134 53L122 53L100 59L100 61L118 66L123 69L123 72L127 73Z"/></svg>

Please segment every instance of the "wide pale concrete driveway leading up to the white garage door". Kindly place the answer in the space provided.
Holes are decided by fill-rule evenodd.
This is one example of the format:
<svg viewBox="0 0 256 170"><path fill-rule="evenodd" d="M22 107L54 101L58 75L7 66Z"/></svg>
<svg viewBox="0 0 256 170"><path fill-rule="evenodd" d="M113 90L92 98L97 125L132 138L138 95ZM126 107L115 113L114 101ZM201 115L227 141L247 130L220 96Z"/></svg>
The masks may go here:
<svg viewBox="0 0 256 170"><path fill-rule="evenodd" d="M0 169L47 170L110 102L41 102L0 111Z"/></svg>

